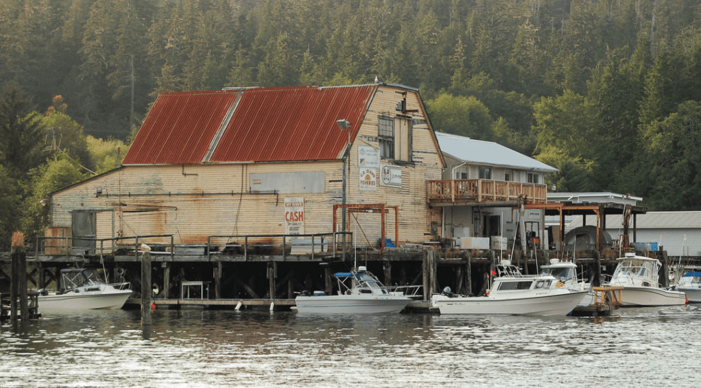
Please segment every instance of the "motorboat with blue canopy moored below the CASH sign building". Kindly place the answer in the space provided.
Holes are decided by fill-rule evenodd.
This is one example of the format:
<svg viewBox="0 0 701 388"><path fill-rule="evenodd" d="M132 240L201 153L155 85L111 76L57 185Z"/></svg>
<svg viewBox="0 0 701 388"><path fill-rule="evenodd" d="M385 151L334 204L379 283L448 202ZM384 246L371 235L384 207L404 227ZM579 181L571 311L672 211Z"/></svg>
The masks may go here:
<svg viewBox="0 0 701 388"><path fill-rule="evenodd" d="M294 302L299 313L322 314L386 314L407 307L411 298L402 291L389 291L365 267L334 274L338 280L337 295L314 291L312 296L297 296ZM350 286L347 284L350 282Z"/></svg>

